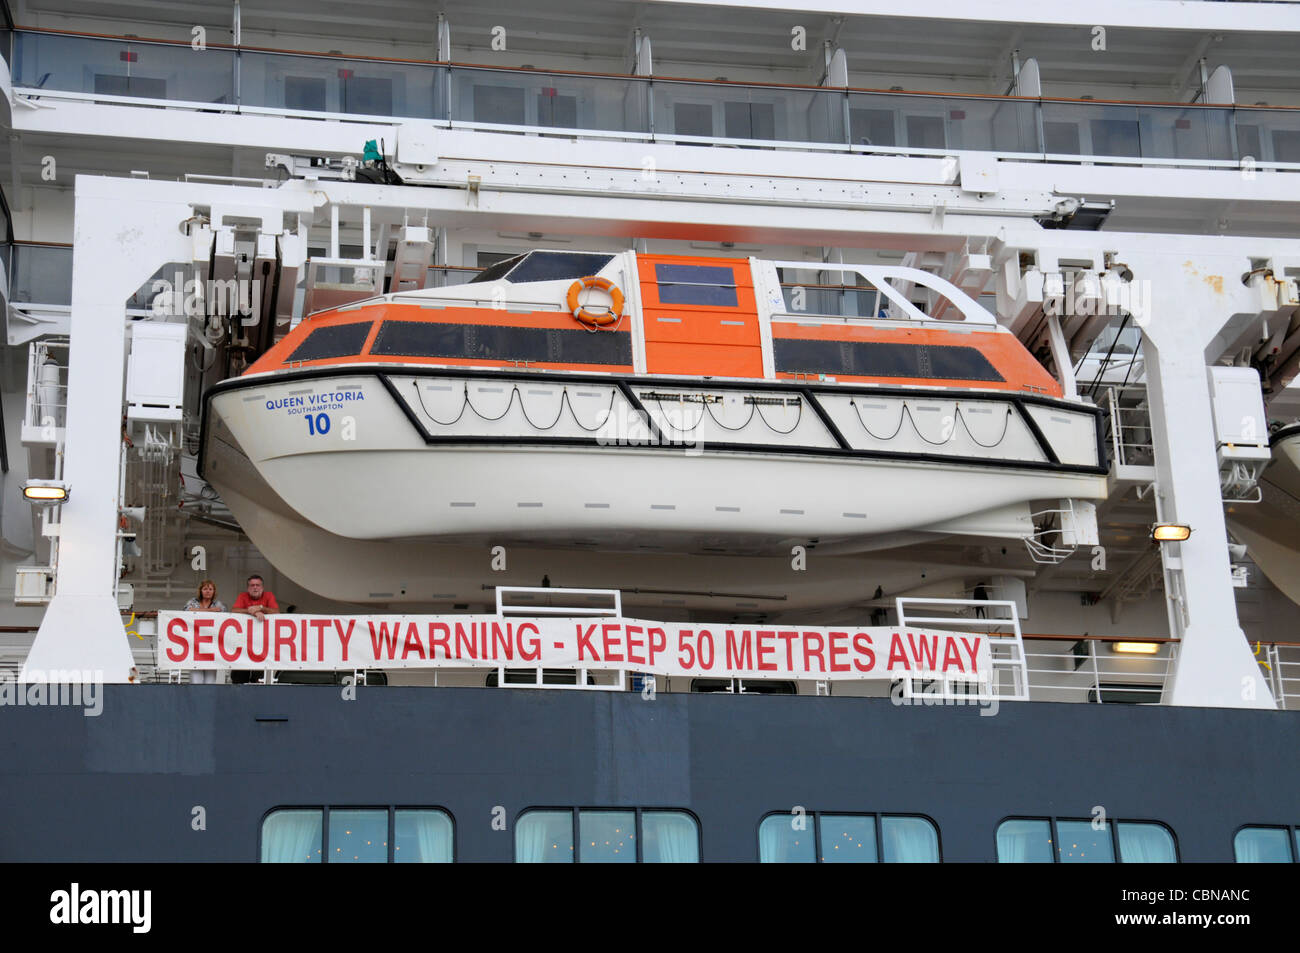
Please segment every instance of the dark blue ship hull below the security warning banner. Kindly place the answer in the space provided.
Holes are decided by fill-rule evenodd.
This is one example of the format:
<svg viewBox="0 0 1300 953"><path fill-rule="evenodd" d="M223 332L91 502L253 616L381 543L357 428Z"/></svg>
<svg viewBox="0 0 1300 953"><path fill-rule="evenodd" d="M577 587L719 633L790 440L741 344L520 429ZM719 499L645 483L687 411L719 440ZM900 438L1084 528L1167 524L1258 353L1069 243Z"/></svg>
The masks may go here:
<svg viewBox="0 0 1300 953"><path fill-rule="evenodd" d="M1232 861L1245 824L1300 823L1294 712L341 692L109 686L96 718L0 707L0 859L256 861L269 810L326 805L437 806L456 859L500 862L528 807L686 809L705 861L757 861L759 820L796 806L926 815L958 862L994 861L1009 815L1160 820L1183 861Z"/></svg>

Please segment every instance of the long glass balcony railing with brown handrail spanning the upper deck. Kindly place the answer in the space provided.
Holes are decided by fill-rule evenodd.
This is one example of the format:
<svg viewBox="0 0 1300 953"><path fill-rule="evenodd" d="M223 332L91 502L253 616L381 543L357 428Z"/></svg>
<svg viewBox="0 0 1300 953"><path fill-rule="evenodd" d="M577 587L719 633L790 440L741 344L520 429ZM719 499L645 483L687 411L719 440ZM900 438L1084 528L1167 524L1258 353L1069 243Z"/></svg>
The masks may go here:
<svg viewBox="0 0 1300 953"><path fill-rule="evenodd" d="M705 147L1300 169L1300 109L1286 107L680 79L30 29L12 43L14 92L29 100Z"/></svg>

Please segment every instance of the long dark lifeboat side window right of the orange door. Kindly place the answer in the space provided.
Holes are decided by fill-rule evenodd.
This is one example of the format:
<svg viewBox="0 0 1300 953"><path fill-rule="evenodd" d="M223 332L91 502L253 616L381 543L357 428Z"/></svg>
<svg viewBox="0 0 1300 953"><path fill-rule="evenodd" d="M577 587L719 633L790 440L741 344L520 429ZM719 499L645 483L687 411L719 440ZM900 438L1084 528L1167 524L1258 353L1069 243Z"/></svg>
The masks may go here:
<svg viewBox="0 0 1300 953"><path fill-rule="evenodd" d="M979 348L958 345L774 338L772 351L780 373L949 381L1006 380Z"/></svg>

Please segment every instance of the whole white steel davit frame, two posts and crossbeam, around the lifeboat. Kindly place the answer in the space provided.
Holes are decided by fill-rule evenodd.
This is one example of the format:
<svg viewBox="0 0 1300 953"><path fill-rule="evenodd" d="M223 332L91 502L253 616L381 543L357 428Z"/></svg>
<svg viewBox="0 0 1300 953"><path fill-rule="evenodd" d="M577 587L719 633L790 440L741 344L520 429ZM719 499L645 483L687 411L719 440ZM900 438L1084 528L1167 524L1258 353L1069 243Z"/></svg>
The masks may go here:
<svg viewBox="0 0 1300 953"><path fill-rule="evenodd" d="M1046 196L1053 198L1053 196ZM1006 196L1004 196L1004 202ZM885 195L870 208L774 208L725 196L682 200L664 195L588 195L582 202L543 191L421 189L338 181L290 181L278 189L198 182L77 178L72 354L55 594L23 667L42 672L95 671L127 681L131 654L116 601L116 540L125 300L162 264L188 261L192 241L181 224L208 209L213 226L234 217L261 222L280 237L286 221L306 226L338 208L389 218L428 216L430 224L473 221L485 228L536 222L547 231L660 238L736 238L803 246L888 247L962 254L979 244L998 276L1000 308L1032 303L1035 276L1060 263L1109 263L1145 290L1132 296L1144 330L1144 356L1156 450L1154 493L1161 520L1188 524L1192 537L1162 549L1171 634L1180 640L1176 668L1162 701L1214 707L1273 707L1236 618L1227 530L1206 365L1258 334L1279 311L1279 295L1261 295L1262 272L1294 296L1287 269L1300 263L1300 242L1270 238L1186 237L1043 230L1024 209L998 203L980 209L915 199L890 209ZM1043 209L1050 212L1050 205ZM328 217L326 220L328 221ZM508 222L508 225L507 225ZM1032 265L1023 264L1032 261ZM1262 263L1262 264L1261 264ZM805 264L811 270L818 263ZM1031 274L1032 272L1032 274ZM1295 274L1295 270L1291 272ZM1041 300L1039 281L1039 300ZM1001 316L1006 321L1010 315ZM1065 342L1053 328L1054 350ZM1057 363L1061 363L1060 360ZM1069 363L1069 361L1065 361Z"/></svg>

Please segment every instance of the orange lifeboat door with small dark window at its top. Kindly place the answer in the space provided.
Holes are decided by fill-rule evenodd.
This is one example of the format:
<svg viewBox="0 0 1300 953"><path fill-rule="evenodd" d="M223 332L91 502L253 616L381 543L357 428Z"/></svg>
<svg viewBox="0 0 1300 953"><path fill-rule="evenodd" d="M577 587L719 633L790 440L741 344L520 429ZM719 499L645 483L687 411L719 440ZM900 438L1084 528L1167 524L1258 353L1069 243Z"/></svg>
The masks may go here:
<svg viewBox="0 0 1300 953"><path fill-rule="evenodd" d="M638 255L646 373L763 377L745 259Z"/></svg>

